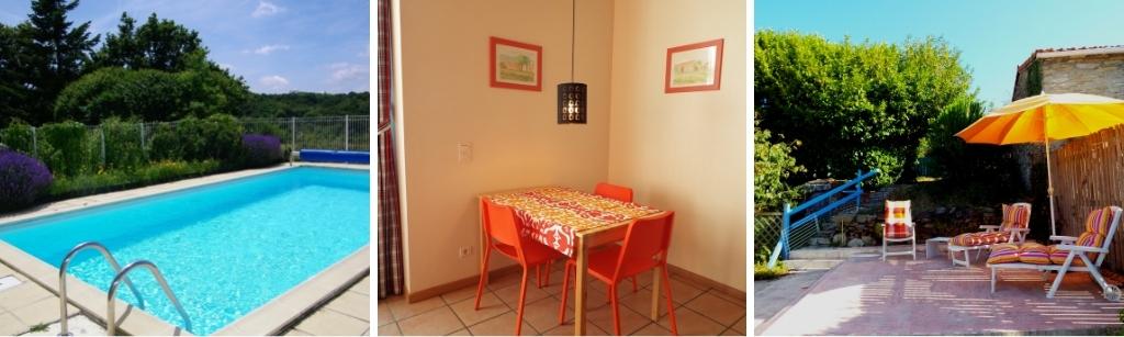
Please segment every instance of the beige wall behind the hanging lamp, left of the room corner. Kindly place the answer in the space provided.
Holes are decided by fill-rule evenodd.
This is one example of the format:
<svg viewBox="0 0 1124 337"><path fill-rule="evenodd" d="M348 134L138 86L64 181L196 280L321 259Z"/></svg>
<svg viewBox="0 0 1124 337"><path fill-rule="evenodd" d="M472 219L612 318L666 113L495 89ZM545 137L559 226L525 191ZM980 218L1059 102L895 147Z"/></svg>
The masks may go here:
<svg viewBox="0 0 1124 337"><path fill-rule="evenodd" d="M556 85L570 79L570 1L395 7L407 290L419 291L478 274L478 193L545 184L592 190L607 177L613 2L578 1L574 76L589 85L588 125L556 124ZM542 91L489 86L489 36L543 47ZM457 143L472 143L470 163L457 162ZM459 258L466 246L473 253Z"/></svg>

